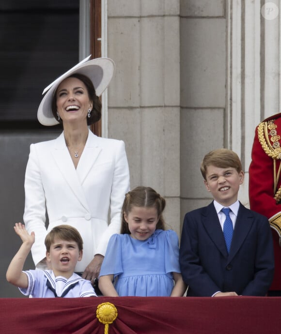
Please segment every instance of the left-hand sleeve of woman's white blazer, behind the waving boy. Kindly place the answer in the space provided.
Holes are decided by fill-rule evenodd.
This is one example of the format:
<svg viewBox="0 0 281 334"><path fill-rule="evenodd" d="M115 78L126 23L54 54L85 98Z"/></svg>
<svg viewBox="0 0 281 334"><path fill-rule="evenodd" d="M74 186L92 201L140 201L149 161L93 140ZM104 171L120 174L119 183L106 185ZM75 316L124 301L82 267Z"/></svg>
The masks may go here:
<svg viewBox="0 0 281 334"><path fill-rule="evenodd" d="M40 263L46 257L44 245L47 235L45 192L41 180L39 162L34 144L30 146L30 154L25 173L25 209L23 220L29 233L35 233L35 243L31 248L31 255L35 266L46 269L46 265Z"/></svg>

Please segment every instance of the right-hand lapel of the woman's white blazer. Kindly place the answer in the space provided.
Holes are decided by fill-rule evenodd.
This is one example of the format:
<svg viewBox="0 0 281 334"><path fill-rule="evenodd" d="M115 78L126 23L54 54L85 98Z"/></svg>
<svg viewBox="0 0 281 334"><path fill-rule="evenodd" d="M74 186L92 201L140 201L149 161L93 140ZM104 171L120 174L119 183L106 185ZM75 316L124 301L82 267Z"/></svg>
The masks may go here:
<svg viewBox="0 0 281 334"><path fill-rule="evenodd" d="M85 181L100 152L97 137L89 130L86 145L76 169L81 184Z"/></svg>

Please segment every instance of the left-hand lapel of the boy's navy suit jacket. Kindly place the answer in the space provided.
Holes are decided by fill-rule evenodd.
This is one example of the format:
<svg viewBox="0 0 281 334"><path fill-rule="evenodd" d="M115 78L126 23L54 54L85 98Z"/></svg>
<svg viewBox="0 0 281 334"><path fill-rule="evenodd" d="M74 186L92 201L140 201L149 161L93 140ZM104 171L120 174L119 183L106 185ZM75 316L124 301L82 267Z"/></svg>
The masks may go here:
<svg viewBox="0 0 281 334"><path fill-rule="evenodd" d="M225 240L221 226L219 224L219 217L213 202L209 204L202 212L202 222L208 235L218 247L221 254L225 258L227 258L228 253L225 245Z"/></svg>

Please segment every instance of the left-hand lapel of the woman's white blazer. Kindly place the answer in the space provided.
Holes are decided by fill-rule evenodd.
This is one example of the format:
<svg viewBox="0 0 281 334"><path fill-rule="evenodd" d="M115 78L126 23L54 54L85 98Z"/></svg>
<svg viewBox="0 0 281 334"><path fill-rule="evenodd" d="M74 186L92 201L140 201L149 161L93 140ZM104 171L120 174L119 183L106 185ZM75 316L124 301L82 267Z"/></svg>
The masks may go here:
<svg viewBox="0 0 281 334"><path fill-rule="evenodd" d="M85 207L85 209L89 211L89 206L81 186L81 182L65 144L63 132L61 136L55 140L55 147L51 153L62 173L63 178L70 186L74 195L78 198L79 202Z"/></svg>

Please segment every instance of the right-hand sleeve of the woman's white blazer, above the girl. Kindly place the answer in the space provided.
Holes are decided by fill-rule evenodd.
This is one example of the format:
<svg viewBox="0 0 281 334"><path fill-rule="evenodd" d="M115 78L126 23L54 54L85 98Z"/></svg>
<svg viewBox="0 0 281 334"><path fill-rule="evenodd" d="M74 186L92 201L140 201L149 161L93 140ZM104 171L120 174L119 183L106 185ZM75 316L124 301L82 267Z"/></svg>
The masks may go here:
<svg viewBox="0 0 281 334"><path fill-rule="evenodd" d="M120 233L121 209L125 194L130 189L130 175L125 144L122 140L116 140L115 167L113 173L110 194L110 224L103 233L96 248L96 254L105 255L111 235Z"/></svg>

